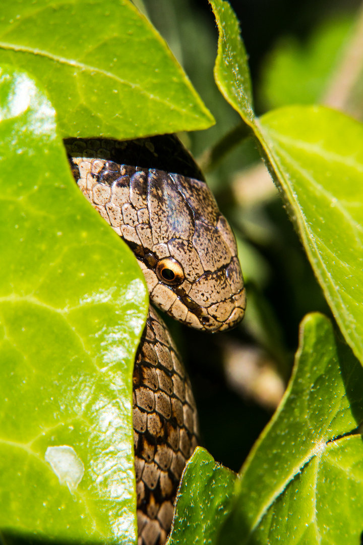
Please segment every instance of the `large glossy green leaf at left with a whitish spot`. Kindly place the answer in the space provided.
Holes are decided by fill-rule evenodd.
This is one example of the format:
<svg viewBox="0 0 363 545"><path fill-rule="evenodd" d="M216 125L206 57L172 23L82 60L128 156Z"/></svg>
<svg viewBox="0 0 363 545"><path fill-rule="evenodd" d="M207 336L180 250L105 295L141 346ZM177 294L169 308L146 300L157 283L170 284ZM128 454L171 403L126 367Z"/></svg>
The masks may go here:
<svg viewBox="0 0 363 545"><path fill-rule="evenodd" d="M16 68L0 72L0 113L2 538L134 543L143 275L77 189L52 105Z"/></svg>

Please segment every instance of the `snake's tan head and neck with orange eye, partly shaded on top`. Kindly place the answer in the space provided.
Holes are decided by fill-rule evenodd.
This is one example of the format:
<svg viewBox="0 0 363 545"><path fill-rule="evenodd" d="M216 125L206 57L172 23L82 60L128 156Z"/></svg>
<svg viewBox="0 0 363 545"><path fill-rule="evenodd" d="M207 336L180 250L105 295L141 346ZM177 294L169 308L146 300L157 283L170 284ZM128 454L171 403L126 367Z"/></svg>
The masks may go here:
<svg viewBox="0 0 363 545"><path fill-rule="evenodd" d="M159 165L128 166L139 148L140 141L67 141L79 189L134 251L151 302L197 329L233 328L244 316L245 289L230 226L204 181Z"/></svg>

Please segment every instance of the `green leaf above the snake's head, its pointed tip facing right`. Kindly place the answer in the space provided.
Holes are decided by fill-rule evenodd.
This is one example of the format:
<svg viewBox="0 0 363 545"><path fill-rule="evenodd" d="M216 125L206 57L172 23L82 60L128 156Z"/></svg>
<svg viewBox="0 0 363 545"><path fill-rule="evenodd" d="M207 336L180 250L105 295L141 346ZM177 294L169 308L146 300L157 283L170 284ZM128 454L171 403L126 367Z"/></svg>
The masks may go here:
<svg viewBox="0 0 363 545"><path fill-rule="evenodd" d="M164 40L128 0L4 4L4 63L45 86L64 137L125 140L214 123Z"/></svg>

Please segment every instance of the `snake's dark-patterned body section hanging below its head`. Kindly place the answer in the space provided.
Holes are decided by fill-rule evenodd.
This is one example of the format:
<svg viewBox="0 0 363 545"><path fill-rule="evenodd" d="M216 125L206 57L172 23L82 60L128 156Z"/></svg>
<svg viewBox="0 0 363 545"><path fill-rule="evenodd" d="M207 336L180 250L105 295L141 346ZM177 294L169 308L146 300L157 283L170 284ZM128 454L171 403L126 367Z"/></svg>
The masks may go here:
<svg viewBox="0 0 363 545"><path fill-rule="evenodd" d="M161 545L184 466L198 444L198 419L184 366L152 307L133 373L133 426L138 545Z"/></svg>

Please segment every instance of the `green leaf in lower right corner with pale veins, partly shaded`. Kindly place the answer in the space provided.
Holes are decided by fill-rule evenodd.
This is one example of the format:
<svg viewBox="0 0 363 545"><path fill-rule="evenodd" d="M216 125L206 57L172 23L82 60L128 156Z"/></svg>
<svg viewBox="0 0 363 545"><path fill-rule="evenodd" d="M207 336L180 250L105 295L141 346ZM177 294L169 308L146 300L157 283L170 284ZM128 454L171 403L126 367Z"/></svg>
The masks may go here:
<svg viewBox="0 0 363 545"><path fill-rule="evenodd" d="M327 318L307 315L291 382L242 469L219 543L359 543L362 419L359 361Z"/></svg>

